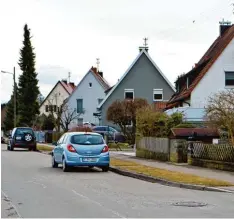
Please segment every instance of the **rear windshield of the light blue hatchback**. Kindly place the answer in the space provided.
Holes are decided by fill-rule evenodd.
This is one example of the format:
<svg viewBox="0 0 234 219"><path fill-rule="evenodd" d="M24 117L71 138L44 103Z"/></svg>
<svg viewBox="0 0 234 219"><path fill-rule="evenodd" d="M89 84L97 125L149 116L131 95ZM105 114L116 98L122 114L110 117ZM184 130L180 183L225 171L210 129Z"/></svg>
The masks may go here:
<svg viewBox="0 0 234 219"><path fill-rule="evenodd" d="M97 145L104 144L103 138L100 135L73 135L71 137L72 144L82 144L82 145Z"/></svg>

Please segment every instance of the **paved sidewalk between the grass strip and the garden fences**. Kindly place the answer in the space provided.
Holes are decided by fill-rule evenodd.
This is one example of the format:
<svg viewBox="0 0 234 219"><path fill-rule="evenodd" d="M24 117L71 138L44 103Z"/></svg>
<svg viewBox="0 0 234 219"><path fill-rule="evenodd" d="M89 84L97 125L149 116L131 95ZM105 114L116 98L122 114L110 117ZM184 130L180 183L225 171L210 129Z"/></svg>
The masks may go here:
<svg viewBox="0 0 234 219"><path fill-rule="evenodd" d="M200 177L206 177L216 180L224 180L227 182L230 182L234 184L234 173L233 172L227 172L227 171L221 171L221 170L213 170L208 168L202 168L202 167L195 167L188 164L173 164L168 162L159 162L155 160L146 160L142 158L137 158L133 156L132 153L128 155L127 153L115 153L111 152L111 157L126 160L126 161L132 161L139 163L141 165L155 167L159 169L166 169L170 171L176 171L181 173L187 173L187 174L193 174ZM232 188L234 190L234 187Z"/></svg>

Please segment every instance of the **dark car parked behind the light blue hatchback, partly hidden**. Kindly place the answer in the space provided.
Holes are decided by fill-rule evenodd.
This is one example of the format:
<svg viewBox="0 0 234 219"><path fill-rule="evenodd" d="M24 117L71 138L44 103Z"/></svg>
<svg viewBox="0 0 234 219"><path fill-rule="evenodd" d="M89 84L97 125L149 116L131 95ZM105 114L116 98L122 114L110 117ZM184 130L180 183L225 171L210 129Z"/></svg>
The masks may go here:
<svg viewBox="0 0 234 219"><path fill-rule="evenodd" d="M108 141L125 142L124 135L111 126L95 126L92 130L103 137L108 136Z"/></svg>

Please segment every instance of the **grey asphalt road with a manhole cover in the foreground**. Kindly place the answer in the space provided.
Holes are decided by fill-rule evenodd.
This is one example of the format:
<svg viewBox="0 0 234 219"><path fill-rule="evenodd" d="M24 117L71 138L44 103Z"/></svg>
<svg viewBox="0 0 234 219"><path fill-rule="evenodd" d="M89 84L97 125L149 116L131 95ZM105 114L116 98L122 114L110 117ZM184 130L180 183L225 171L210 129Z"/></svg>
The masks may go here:
<svg viewBox="0 0 234 219"><path fill-rule="evenodd" d="M167 187L86 168L63 173L51 168L48 155L7 151L6 145L1 158L2 217L16 213L23 218L234 216L234 195L229 193ZM177 202L207 205L174 206Z"/></svg>

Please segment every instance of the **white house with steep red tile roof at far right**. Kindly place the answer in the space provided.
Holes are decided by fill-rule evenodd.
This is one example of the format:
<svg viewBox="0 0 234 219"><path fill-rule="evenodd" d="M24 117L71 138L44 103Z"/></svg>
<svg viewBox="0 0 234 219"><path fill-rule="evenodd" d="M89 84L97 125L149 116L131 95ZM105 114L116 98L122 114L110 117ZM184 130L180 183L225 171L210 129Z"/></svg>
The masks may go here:
<svg viewBox="0 0 234 219"><path fill-rule="evenodd" d="M205 108L208 98L221 90L234 88L234 25L220 22L218 38L195 67L178 77L176 93L166 109Z"/></svg>

